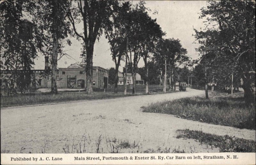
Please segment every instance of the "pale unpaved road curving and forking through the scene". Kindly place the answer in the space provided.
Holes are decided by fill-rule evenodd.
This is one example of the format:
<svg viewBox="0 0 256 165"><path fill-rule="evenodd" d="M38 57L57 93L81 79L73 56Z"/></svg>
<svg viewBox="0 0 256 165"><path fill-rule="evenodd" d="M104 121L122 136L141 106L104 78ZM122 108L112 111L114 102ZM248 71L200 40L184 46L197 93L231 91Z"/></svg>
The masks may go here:
<svg viewBox="0 0 256 165"><path fill-rule="evenodd" d="M100 153L111 152L110 141L115 144L129 141L136 146L123 151L119 148L119 152L144 152L148 149L156 152L158 148L170 148L170 152L175 149L186 153L218 152L218 148L200 145L193 139L175 138L178 129L255 140L255 130L140 110L149 103L203 93L202 90L188 89L169 94L1 109L1 153L64 153L64 149L71 153L72 148L73 152L79 148L79 143L84 145L82 151L86 149L85 152L95 153L99 137Z"/></svg>

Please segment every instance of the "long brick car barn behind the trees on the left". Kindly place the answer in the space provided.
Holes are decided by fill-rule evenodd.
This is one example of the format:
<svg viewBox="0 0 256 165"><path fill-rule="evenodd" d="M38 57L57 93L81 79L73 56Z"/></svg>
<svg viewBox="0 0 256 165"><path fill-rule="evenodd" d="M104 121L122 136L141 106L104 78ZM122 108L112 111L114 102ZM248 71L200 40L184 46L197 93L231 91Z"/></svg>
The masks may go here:
<svg viewBox="0 0 256 165"><path fill-rule="evenodd" d="M48 64L45 64L48 67ZM1 70L1 75L10 74L11 70ZM23 72L18 70L16 72ZM51 75L42 77L44 70L32 70L31 79L35 78L36 88L51 88L52 80ZM1 76L2 77L2 76ZM2 85L1 79L1 88ZM33 82L33 81L31 81ZM13 84L16 86L16 84ZM32 84L31 84L32 86ZM57 71L57 87L58 88L85 88L86 75L84 67L73 64L67 68L59 68ZM108 69L102 67L93 67L92 71L92 87L93 88L108 88Z"/></svg>

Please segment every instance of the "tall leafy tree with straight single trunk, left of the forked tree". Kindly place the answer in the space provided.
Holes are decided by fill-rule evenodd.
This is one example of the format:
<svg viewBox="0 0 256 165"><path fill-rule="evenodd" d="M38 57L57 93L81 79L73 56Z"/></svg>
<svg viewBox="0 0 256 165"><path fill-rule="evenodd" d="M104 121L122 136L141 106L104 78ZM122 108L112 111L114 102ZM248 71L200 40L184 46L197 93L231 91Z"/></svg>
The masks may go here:
<svg viewBox="0 0 256 165"><path fill-rule="evenodd" d="M44 34L44 50L42 53L51 59L51 78L53 94L58 93L57 89L57 61L63 56L62 48L64 39L68 37L70 31L70 23L68 22L69 1L36 1L36 11L34 15L38 24L41 25ZM66 40L70 45L70 40ZM58 58L59 55L59 58Z"/></svg>

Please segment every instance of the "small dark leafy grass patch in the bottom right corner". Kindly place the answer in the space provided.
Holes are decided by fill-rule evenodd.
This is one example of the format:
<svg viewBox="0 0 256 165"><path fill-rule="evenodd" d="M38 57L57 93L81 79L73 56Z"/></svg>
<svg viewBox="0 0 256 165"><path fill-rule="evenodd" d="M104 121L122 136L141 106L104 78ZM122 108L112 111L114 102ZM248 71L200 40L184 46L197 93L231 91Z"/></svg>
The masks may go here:
<svg viewBox="0 0 256 165"><path fill-rule="evenodd" d="M236 138L225 135L218 136L214 134L204 133L197 130L177 130L176 138L195 139L201 144L211 145L215 148L220 148L219 152L248 152L254 153L256 151L255 140L246 140L243 138Z"/></svg>

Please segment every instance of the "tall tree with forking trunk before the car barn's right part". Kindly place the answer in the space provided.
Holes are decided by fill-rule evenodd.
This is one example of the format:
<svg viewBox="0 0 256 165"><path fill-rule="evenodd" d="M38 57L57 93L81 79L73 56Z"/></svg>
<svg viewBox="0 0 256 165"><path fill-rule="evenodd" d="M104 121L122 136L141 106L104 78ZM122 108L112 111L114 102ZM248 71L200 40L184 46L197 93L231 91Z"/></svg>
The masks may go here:
<svg viewBox="0 0 256 165"><path fill-rule="evenodd" d="M84 57L86 57L86 90L92 93L92 58L94 43L102 34L103 23L109 19L114 1L77 1L77 7L68 7L68 18L73 26L75 35L83 40ZM83 32L76 29L77 23L83 23Z"/></svg>

